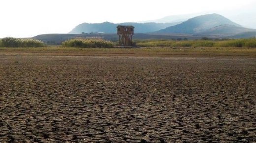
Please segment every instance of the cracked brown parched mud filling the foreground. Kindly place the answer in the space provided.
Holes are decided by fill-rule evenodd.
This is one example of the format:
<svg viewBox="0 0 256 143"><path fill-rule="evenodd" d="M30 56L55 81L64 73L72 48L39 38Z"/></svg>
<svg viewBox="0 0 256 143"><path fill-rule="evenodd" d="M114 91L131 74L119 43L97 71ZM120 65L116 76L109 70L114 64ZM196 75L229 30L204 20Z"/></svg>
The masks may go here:
<svg viewBox="0 0 256 143"><path fill-rule="evenodd" d="M255 57L0 55L0 142L256 142Z"/></svg>

